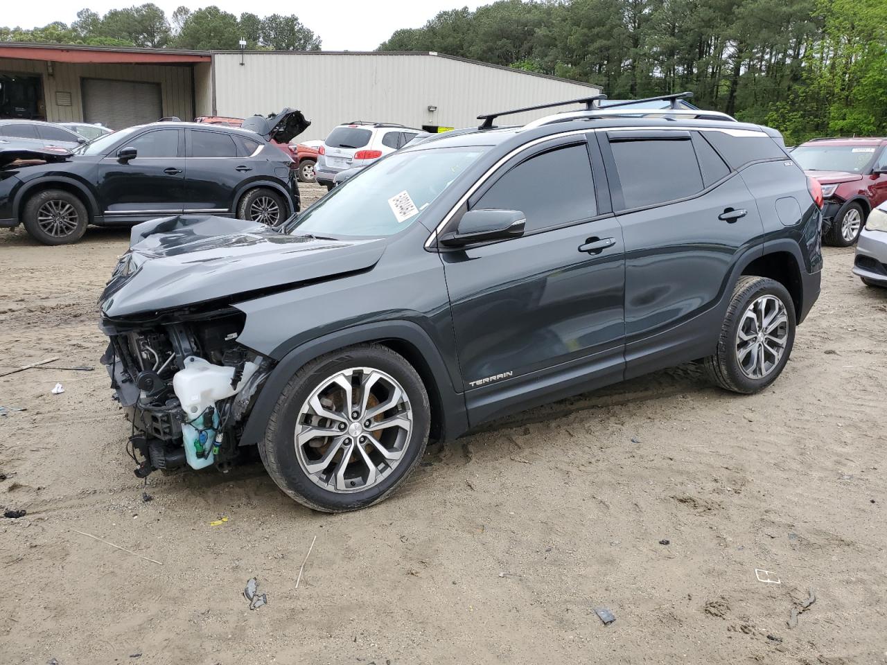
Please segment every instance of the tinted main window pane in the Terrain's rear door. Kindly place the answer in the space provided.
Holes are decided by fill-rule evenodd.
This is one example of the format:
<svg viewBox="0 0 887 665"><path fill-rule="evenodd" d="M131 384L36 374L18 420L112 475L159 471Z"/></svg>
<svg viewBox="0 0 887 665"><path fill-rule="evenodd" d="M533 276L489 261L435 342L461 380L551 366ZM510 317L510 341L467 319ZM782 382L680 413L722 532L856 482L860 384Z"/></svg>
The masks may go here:
<svg viewBox="0 0 887 665"><path fill-rule="evenodd" d="M610 148L626 209L682 199L703 190L691 141L614 141Z"/></svg>

